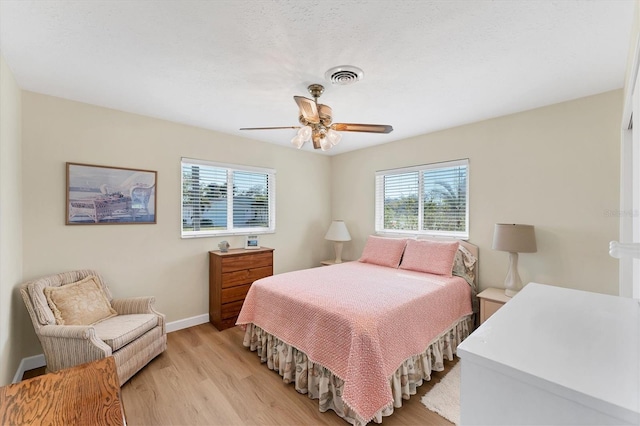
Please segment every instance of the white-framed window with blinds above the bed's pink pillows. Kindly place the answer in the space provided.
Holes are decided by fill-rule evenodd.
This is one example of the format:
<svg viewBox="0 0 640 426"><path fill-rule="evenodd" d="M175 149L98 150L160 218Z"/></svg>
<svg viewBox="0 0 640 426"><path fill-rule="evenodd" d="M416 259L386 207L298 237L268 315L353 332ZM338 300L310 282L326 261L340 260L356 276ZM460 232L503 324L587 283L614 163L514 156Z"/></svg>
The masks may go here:
<svg viewBox="0 0 640 426"><path fill-rule="evenodd" d="M469 237L469 160L376 172L376 232Z"/></svg>

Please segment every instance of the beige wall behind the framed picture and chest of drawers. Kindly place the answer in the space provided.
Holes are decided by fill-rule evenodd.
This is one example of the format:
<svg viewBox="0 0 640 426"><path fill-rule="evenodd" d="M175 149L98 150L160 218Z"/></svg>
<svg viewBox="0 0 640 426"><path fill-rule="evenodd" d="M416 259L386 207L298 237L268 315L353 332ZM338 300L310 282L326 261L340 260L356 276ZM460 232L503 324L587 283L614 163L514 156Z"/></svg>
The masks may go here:
<svg viewBox="0 0 640 426"><path fill-rule="evenodd" d="M330 253L326 156L26 91L22 103L25 280L95 268L117 296L155 295L169 322L207 313L207 252L223 238L180 238L181 157L276 170L276 233L260 236L276 273ZM157 170L158 223L66 226L67 161ZM41 352L31 337L24 356Z"/></svg>

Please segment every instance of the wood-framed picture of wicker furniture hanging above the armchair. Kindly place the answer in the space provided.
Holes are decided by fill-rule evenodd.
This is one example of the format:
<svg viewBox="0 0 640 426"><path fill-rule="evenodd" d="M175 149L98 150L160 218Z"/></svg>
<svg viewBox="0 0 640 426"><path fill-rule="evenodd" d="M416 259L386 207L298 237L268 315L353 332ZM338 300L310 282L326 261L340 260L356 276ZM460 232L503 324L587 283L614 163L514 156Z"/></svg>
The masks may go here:
<svg viewBox="0 0 640 426"><path fill-rule="evenodd" d="M156 223L157 172L67 163L67 225Z"/></svg>

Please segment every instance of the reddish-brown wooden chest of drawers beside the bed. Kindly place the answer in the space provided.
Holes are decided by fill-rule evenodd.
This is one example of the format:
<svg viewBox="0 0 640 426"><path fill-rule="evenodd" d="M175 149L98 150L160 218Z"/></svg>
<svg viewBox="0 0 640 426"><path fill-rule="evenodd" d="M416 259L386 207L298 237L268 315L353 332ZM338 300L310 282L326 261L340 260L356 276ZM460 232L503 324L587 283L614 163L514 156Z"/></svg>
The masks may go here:
<svg viewBox="0 0 640 426"><path fill-rule="evenodd" d="M273 249L209 252L209 321L218 330L233 327L251 284L273 275Z"/></svg>

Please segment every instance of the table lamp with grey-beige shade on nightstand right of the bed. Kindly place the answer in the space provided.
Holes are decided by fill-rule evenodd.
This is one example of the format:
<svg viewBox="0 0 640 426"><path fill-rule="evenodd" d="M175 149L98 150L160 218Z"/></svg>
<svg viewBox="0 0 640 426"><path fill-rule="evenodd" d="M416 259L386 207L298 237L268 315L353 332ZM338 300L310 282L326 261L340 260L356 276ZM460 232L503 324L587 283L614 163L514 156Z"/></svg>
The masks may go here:
<svg viewBox="0 0 640 426"><path fill-rule="evenodd" d="M509 271L504 280L504 294L509 297L515 296L522 289L522 280L518 274L518 253L537 251L533 226L496 223L493 231L493 249L509 252Z"/></svg>

